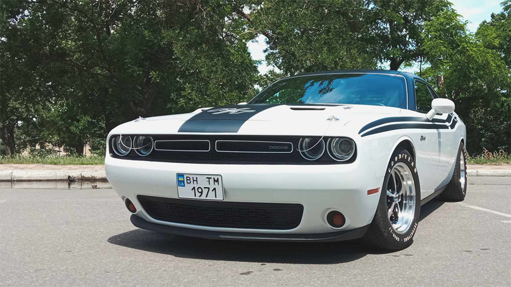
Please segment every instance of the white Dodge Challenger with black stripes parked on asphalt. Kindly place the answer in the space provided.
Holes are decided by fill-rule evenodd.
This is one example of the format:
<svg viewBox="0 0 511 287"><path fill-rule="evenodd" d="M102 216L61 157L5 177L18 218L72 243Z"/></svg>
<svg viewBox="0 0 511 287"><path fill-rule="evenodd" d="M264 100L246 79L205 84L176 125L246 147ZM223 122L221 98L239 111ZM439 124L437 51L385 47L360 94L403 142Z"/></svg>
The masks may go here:
<svg viewBox="0 0 511 287"><path fill-rule="evenodd" d="M248 103L122 124L105 165L143 229L400 250L422 204L464 199L466 140L454 103L416 75L326 71Z"/></svg>

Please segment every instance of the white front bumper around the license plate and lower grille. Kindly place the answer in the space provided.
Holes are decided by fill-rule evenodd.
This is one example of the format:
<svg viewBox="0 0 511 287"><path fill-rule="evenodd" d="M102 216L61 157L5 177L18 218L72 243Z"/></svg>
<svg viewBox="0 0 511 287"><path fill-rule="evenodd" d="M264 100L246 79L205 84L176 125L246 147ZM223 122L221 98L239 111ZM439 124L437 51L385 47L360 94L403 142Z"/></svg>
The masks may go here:
<svg viewBox="0 0 511 287"><path fill-rule="evenodd" d="M147 222L137 221L135 224L132 218L135 226L155 230L153 226L158 225L161 231L172 230L171 233L187 229L187 234L183 235L208 238L286 240L289 236L290 240L317 238L329 241L338 240L332 239L337 237L347 238L340 232L359 230L373 220L380 193L367 195L367 190L381 187L383 178L375 176L373 162L360 158L363 157L351 164L238 165L134 161L107 156L105 166L115 192L123 201L129 198L137 209L135 217ZM200 226L151 218L137 196L177 199L177 173L222 175L224 202L297 203L304 206L303 216L297 227L286 230ZM327 223L326 215L331 210L344 214L344 226L333 228Z"/></svg>

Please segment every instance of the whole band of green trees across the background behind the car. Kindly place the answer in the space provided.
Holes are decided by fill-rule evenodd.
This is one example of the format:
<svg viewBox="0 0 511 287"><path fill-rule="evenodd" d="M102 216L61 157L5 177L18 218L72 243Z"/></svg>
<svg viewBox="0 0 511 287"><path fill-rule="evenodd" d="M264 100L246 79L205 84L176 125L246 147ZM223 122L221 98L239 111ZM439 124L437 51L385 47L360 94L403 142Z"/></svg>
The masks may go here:
<svg viewBox="0 0 511 287"><path fill-rule="evenodd" d="M470 31L447 0L0 1L0 155L101 155L138 116L246 102L300 73L406 67L454 101L470 154L510 153L501 8ZM277 69L259 74L254 39Z"/></svg>

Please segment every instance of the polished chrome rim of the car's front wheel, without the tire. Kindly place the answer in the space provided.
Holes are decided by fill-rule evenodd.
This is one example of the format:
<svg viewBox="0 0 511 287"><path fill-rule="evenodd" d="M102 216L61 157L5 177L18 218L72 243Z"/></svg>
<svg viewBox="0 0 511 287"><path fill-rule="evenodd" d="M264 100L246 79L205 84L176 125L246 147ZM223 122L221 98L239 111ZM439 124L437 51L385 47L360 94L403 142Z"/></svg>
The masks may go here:
<svg viewBox="0 0 511 287"><path fill-rule="evenodd" d="M415 217L415 181L408 165L398 162L387 181L387 216L392 229L406 233Z"/></svg>

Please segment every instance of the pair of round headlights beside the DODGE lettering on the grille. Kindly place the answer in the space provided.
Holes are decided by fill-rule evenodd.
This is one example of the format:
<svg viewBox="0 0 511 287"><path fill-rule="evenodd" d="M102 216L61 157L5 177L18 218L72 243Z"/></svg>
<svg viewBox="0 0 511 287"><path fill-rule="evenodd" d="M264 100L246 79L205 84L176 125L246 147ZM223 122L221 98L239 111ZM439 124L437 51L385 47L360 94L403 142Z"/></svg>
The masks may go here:
<svg viewBox="0 0 511 287"><path fill-rule="evenodd" d="M355 154L355 142L347 137L325 139L320 137L303 137L298 141L298 151L307 160L316 160L323 156L324 151L333 160L346 161Z"/></svg>

